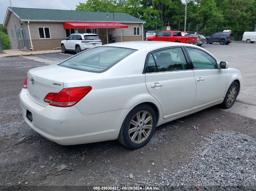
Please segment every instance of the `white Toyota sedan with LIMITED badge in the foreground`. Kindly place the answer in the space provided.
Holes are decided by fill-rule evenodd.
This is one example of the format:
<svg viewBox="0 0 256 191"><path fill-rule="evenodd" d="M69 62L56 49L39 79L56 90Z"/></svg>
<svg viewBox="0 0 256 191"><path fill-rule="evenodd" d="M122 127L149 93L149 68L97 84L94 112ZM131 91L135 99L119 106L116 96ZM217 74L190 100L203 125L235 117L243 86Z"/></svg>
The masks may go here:
<svg viewBox="0 0 256 191"><path fill-rule="evenodd" d="M61 145L117 139L136 149L156 126L221 104L230 108L241 72L194 45L112 43L28 71L19 94L28 125Z"/></svg>

